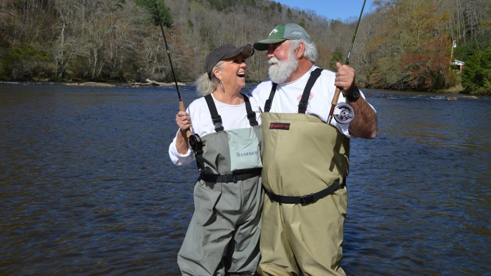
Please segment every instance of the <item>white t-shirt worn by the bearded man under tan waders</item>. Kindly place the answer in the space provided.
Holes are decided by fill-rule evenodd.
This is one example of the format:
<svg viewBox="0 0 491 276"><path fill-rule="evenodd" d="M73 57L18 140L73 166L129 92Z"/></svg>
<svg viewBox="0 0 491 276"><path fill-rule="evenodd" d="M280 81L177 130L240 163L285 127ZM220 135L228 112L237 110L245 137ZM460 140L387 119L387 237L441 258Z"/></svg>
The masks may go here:
<svg viewBox="0 0 491 276"><path fill-rule="evenodd" d="M274 94L273 102L271 105L270 112L274 113L298 113L299 112L299 102L305 89L305 85L310 77L310 73L319 68L317 66L312 66L312 68L302 75L299 79L289 82L289 83L278 83L276 87L276 93ZM334 96L334 91L336 87L334 86L334 78L336 73L323 70L319 78L312 86L310 90L310 97L308 100L306 114L312 114L319 117L322 121L327 122L327 117L329 116L329 110L331 108L331 100ZM264 104L266 100L270 97L271 88L273 82L271 79L267 79L257 85L252 89L252 101L256 101L256 105L259 105L261 111L264 109ZM363 93L360 93L360 97L365 99ZM338 103L346 103L345 98L341 94L338 99ZM373 107L372 107L373 108ZM374 109L375 110L375 109ZM331 125L334 125L348 138L352 138L348 128L348 124L339 124L336 120L331 120Z"/></svg>

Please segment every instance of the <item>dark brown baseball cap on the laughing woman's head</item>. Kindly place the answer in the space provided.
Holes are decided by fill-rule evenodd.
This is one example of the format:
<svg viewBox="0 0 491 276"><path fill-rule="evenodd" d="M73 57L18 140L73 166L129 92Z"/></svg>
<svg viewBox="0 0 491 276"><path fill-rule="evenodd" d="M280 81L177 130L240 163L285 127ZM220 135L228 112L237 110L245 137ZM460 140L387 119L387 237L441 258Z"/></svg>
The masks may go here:
<svg viewBox="0 0 491 276"><path fill-rule="evenodd" d="M213 49L205 59L206 73L208 73L208 77L211 78L213 67L215 67L220 60L232 58L238 54L241 54L244 58L249 58L254 54L254 48L249 44L241 47L225 44Z"/></svg>

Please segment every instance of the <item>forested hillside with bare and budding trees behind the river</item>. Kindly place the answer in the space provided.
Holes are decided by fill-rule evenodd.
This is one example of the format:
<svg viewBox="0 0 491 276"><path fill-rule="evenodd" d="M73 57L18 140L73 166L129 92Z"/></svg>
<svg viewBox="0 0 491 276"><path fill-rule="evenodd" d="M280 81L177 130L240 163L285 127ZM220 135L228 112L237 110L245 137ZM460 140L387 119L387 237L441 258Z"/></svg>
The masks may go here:
<svg viewBox="0 0 491 276"><path fill-rule="evenodd" d="M344 62L357 20L331 20L269 0L156 2L179 81L203 73L214 47L252 44L289 22L309 32L317 64L332 69ZM358 12L362 3L346 9ZM468 92L491 93L489 0L375 0L374 6L364 13L350 56L360 86L435 91L462 77ZM453 59L466 63L462 74L452 69ZM257 52L247 79L266 77L265 52ZM0 80L146 78L173 79L154 0L0 2Z"/></svg>

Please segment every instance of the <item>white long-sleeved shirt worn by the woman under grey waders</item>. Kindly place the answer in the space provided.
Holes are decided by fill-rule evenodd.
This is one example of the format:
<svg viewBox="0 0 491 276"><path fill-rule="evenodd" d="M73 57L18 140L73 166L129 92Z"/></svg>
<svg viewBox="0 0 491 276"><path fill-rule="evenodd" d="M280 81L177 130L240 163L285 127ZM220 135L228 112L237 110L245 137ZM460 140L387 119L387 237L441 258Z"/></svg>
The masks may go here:
<svg viewBox="0 0 491 276"><path fill-rule="evenodd" d="M247 119L245 102L237 105L226 104L221 101L215 100L214 97L213 101L217 106L218 115L220 115L221 117L222 125L225 130L250 127L249 120ZM250 99L249 101L251 103L252 110L256 112L257 122L261 124L261 119L259 118L259 107L257 106L256 101L252 99ZM193 100L188 106L186 112L188 112L188 114L191 116L192 133L196 133L200 137L203 137L206 134L216 132L210 110L208 109L208 105L206 104L206 100L204 97ZM179 133L179 130L177 130L177 133ZM190 164L194 160L194 156L191 154L191 149L189 149L188 147L188 152L186 154L181 154L177 152L176 139L177 134L176 137L174 137L174 139L172 140L172 143L169 145L170 160L172 161L172 163L174 163L174 165L177 166Z"/></svg>

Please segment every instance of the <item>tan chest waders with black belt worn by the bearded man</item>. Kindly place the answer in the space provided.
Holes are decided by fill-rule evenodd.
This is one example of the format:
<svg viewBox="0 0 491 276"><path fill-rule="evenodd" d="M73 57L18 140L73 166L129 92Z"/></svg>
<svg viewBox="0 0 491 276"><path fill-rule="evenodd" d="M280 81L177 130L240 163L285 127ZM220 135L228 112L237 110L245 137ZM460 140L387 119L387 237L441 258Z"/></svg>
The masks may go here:
<svg viewBox="0 0 491 276"><path fill-rule="evenodd" d="M266 194L260 275L344 275L343 223L350 140L336 127L305 114L314 70L299 113L270 113L276 84L261 114L265 139L262 183ZM315 98L314 98L315 99ZM328 107L326 107L328 108Z"/></svg>

